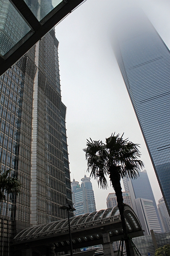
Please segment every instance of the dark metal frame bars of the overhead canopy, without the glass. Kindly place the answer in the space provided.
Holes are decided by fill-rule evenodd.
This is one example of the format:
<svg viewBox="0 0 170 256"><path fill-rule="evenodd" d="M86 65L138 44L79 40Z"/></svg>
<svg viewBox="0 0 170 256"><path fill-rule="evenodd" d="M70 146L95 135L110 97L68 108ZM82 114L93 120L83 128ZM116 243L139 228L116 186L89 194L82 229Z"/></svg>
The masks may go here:
<svg viewBox="0 0 170 256"><path fill-rule="evenodd" d="M38 21L24 0L9 0L17 12L30 26L27 33L5 55L0 55L0 76L15 64L29 49L31 49L47 32L49 32L64 17L69 15L76 7L85 0L63 0L42 20Z"/></svg>

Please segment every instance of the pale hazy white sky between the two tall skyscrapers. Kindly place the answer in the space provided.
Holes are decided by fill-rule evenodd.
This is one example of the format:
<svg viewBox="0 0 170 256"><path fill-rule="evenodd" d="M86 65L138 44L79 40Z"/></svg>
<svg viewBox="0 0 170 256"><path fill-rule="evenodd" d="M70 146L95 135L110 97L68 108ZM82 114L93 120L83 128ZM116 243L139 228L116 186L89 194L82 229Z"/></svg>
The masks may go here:
<svg viewBox="0 0 170 256"><path fill-rule="evenodd" d="M128 0L122 0L122 2ZM86 173L86 139L103 140L113 132L141 145L156 202L161 198L155 172L144 143L121 72L112 51L113 13L120 0L87 0L56 26L59 44L62 101L71 180ZM136 0L170 48L170 1ZM89 174L86 174L89 176ZM106 209L107 190L91 180L97 210Z"/></svg>

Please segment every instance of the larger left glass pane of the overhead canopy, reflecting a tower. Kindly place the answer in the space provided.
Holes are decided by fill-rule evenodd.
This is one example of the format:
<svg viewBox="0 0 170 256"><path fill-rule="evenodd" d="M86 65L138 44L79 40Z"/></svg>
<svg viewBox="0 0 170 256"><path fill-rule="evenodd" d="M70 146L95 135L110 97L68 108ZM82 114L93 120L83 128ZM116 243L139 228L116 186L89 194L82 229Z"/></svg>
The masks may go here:
<svg viewBox="0 0 170 256"><path fill-rule="evenodd" d="M0 0L0 54L5 55L30 30L9 0Z"/></svg>

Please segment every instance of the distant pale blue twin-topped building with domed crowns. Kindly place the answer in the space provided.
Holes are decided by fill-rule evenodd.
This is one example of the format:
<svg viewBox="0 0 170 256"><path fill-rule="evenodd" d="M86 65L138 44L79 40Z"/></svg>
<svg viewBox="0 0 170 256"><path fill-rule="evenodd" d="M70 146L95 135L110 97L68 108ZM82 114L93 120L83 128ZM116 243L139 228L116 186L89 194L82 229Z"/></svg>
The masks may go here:
<svg viewBox="0 0 170 256"><path fill-rule="evenodd" d="M76 216L84 213L96 212L95 196L90 178L84 175L84 178L82 178L81 181L81 186L75 179L71 182L72 201L76 209Z"/></svg>

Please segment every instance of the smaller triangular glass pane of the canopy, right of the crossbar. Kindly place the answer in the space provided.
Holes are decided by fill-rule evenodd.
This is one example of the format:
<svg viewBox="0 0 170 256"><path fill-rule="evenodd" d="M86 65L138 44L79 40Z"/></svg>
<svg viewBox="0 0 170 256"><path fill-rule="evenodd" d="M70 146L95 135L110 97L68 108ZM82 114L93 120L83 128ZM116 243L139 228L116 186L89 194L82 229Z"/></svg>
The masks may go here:
<svg viewBox="0 0 170 256"><path fill-rule="evenodd" d="M37 20L42 20L63 0L24 0Z"/></svg>

